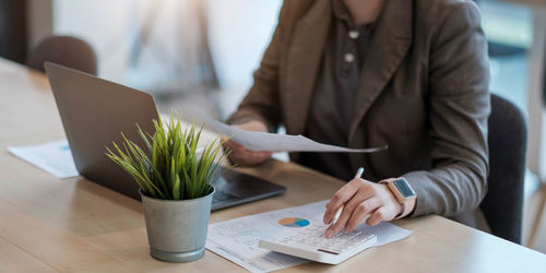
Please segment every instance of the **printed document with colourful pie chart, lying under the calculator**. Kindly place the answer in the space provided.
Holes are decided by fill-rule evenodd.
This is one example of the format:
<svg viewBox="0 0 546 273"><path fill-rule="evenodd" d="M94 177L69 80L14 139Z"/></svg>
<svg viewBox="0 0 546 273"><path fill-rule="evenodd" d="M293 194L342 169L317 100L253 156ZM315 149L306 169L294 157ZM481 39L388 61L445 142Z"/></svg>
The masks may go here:
<svg viewBox="0 0 546 273"><path fill-rule="evenodd" d="M281 225L281 219L282 223L286 223L286 218L308 219L311 224L322 223L327 202L328 200L324 200L211 224L205 247L252 272L270 272L308 262L305 259L259 248L258 242L260 239L275 238L275 234L283 234L285 228L297 228ZM376 246L401 240L412 234L412 230L390 223L381 223L375 227L361 224L358 228L375 234L378 237Z"/></svg>

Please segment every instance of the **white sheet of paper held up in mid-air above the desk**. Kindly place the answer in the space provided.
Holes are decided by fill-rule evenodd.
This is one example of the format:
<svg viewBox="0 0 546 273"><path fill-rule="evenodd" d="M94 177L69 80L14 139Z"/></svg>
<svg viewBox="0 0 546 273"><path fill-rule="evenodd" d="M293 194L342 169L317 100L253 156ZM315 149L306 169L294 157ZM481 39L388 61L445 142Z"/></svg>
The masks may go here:
<svg viewBox="0 0 546 273"><path fill-rule="evenodd" d="M198 115L198 119L204 122L205 127L211 130L230 136L232 140L245 145L245 147L251 151L375 153L389 147L387 144L371 149L341 147L319 143L304 135L245 131L211 119L204 115Z"/></svg>

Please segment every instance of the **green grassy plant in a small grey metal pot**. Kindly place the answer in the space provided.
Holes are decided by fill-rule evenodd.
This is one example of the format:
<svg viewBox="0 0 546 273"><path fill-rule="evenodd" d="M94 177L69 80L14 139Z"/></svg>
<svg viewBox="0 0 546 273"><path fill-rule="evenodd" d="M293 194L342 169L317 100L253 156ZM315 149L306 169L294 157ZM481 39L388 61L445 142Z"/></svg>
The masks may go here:
<svg viewBox="0 0 546 273"><path fill-rule="evenodd" d="M182 129L180 119L168 124L154 120L155 133L139 134L146 152L123 135L122 149L112 143L107 156L129 173L140 187L150 254L168 262L189 262L204 254L218 163L218 139L198 155L202 132L195 123ZM219 154L221 156L218 156Z"/></svg>

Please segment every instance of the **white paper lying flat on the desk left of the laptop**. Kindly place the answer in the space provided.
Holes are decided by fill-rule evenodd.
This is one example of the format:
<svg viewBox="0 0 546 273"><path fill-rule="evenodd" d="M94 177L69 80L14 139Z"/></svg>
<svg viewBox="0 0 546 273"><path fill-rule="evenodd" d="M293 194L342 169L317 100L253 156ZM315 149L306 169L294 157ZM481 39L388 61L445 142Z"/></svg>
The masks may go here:
<svg viewBox="0 0 546 273"><path fill-rule="evenodd" d="M58 178L80 175L67 140L29 146L8 146L8 151Z"/></svg>

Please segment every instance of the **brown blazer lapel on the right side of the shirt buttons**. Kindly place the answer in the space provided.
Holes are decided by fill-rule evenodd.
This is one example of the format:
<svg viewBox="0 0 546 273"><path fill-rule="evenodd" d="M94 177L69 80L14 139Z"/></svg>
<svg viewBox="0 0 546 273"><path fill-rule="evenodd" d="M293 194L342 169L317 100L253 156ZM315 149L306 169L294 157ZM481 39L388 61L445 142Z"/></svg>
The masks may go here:
<svg viewBox="0 0 546 273"><path fill-rule="evenodd" d="M413 1L390 0L379 19L357 90L348 143L358 123L399 68L412 44ZM361 145L361 143L358 143Z"/></svg>

